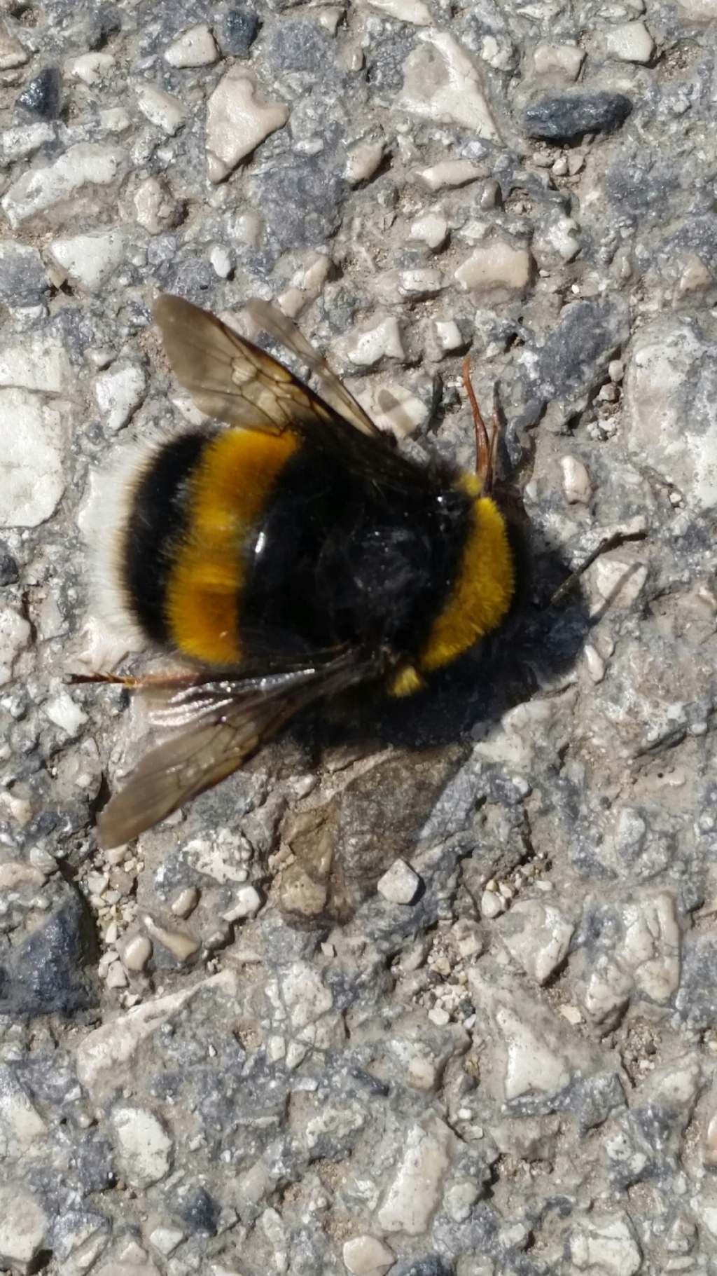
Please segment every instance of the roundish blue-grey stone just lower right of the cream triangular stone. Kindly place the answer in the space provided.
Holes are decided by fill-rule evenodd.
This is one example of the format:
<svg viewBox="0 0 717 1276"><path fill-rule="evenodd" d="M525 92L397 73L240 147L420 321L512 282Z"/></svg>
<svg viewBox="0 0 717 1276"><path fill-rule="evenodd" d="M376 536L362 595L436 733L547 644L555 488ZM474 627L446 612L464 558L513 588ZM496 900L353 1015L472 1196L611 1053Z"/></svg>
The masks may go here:
<svg viewBox="0 0 717 1276"><path fill-rule="evenodd" d="M315 248L336 235L346 182L315 156L272 165L255 181L258 207L282 249Z"/></svg>

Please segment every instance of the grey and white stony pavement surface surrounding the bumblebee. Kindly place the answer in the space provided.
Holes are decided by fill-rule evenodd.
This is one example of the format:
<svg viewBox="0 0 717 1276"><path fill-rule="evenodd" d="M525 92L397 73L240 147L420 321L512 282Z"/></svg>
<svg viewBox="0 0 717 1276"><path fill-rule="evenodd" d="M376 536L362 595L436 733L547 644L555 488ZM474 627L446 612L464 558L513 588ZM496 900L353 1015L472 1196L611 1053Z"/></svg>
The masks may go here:
<svg viewBox="0 0 717 1276"><path fill-rule="evenodd" d="M1 1270L713 1271L716 46L711 0L5 6ZM278 299L466 468L468 355L532 574L431 694L102 852L145 721L68 676L149 653L98 475L200 421L158 290Z"/></svg>

